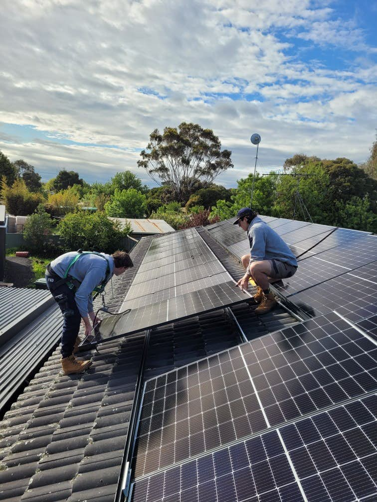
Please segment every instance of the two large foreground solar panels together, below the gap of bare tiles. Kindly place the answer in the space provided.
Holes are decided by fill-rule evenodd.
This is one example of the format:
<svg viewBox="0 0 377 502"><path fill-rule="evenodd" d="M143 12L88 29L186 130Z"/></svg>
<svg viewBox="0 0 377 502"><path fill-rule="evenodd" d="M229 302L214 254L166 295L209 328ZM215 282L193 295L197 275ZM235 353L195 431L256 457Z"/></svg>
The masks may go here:
<svg viewBox="0 0 377 502"><path fill-rule="evenodd" d="M148 381L132 500L372 500L376 368L330 313Z"/></svg>

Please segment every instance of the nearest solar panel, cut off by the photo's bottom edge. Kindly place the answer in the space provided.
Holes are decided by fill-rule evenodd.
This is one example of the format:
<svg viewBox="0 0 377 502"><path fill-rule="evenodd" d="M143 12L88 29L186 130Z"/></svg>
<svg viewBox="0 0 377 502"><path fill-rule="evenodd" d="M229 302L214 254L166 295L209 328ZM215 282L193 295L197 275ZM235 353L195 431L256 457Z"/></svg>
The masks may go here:
<svg viewBox="0 0 377 502"><path fill-rule="evenodd" d="M137 480L131 500L371 502L375 407L373 395Z"/></svg>

